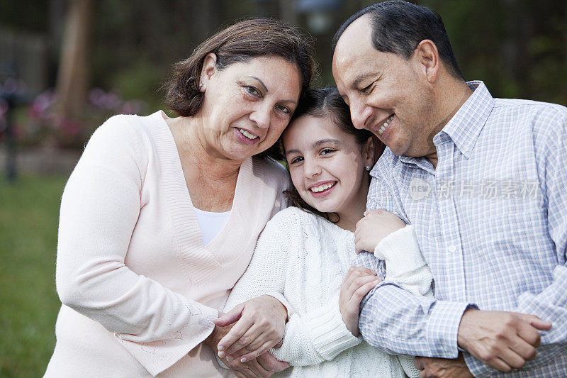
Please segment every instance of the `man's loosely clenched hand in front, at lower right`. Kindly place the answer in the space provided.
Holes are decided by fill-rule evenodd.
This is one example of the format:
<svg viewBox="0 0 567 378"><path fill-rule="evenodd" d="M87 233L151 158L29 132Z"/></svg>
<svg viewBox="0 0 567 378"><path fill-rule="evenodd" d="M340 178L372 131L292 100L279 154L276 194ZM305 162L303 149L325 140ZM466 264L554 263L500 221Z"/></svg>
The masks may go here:
<svg viewBox="0 0 567 378"><path fill-rule="evenodd" d="M467 310L459 324L459 346L487 365L510 372L536 357L540 330L551 323L534 315Z"/></svg>

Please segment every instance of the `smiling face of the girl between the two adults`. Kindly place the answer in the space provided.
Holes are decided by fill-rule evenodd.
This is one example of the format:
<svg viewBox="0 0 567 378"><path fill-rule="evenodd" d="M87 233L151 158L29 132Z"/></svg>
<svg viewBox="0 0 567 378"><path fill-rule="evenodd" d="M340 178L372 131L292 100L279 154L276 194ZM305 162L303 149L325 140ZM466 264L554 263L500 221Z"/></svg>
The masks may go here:
<svg viewBox="0 0 567 378"><path fill-rule="evenodd" d="M330 115L301 116L283 133L293 186L310 206L337 213L339 226L357 222L366 208L372 143L359 145L335 125ZM351 228L351 226L343 227Z"/></svg>

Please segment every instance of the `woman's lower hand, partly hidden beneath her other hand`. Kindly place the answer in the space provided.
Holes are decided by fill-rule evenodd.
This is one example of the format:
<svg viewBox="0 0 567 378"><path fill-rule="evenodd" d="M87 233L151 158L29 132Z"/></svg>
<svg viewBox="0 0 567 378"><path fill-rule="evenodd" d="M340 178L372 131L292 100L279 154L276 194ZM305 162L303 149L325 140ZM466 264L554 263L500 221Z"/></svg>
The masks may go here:
<svg viewBox="0 0 567 378"><path fill-rule="evenodd" d="M215 326L213 333L203 341L204 344L210 346L213 352L218 355L217 345L218 342L230 331L234 326L219 327ZM257 357L255 360L249 360L247 362L240 362L240 360L235 359L228 361L223 358L223 363L236 374L237 377L270 377L274 372L281 372L283 369L289 367L287 362L281 362L276 360L276 357L271 355L269 352Z"/></svg>

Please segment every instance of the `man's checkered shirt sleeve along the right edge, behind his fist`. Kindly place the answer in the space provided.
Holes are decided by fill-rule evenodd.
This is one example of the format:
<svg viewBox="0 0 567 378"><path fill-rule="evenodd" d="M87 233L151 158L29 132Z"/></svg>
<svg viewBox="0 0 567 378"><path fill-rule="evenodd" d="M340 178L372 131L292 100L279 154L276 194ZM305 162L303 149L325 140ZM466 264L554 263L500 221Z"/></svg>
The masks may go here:
<svg viewBox="0 0 567 378"><path fill-rule="evenodd" d="M542 367L567 352L567 109L548 105L534 120L534 146L540 188L547 209L548 230L555 244L558 261L551 273L551 284L540 293L524 292L517 300L516 312L539 316L553 324L541 332L537 357L523 369ZM534 245L537 250L538 246ZM476 377L488 377L495 369L464 354Z"/></svg>

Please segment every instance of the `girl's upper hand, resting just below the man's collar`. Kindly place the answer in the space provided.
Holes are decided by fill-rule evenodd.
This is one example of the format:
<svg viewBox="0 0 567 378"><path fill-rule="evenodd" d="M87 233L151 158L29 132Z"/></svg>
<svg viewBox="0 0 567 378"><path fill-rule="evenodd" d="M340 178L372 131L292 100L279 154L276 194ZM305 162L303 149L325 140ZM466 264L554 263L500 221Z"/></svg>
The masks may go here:
<svg viewBox="0 0 567 378"><path fill-rule="evenodd" d="M386 210L367 211L354 230L354 248L357 255L363 250L374 252L376 245L383 238L404 227L405 223L393 213Z"/></svg>

